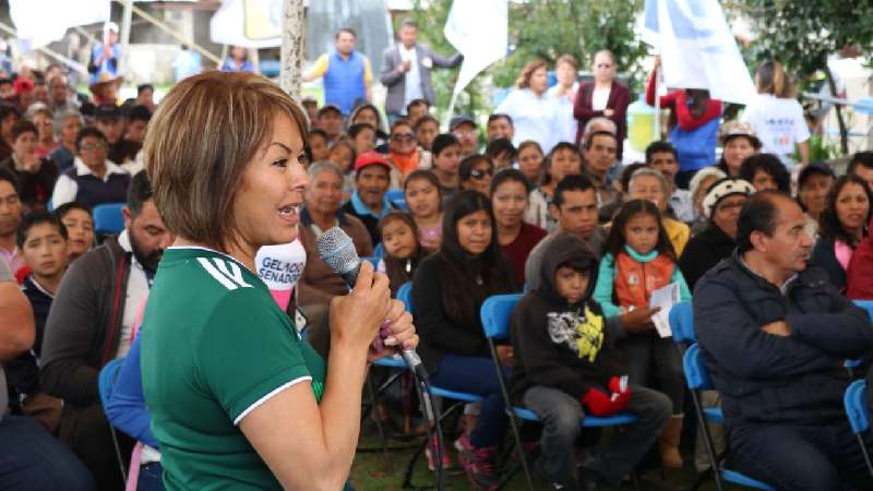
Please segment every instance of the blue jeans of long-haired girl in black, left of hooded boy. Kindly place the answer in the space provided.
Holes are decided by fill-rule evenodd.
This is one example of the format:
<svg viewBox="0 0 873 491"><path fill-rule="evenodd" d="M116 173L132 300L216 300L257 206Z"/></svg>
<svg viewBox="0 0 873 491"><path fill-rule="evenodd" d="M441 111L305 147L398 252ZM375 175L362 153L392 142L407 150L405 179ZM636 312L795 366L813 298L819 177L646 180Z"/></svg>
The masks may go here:
<svg viewBox="0 0 873 491"><path fill-rule="evenodd" d="M507 376L509 369L504 369ZM506 433L506 412L494 362L485 357L443 356L431 374L430 382L449 391L466 392L485 397L482 410L470 433L470 443L477 447L495 446Z"/></svg>

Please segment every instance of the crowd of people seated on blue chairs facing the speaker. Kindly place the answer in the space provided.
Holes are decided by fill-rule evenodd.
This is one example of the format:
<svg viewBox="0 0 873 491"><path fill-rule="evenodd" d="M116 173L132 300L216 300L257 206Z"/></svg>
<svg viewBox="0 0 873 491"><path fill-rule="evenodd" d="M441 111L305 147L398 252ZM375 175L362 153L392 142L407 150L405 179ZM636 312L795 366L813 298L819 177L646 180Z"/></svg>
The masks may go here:
<svg viewBox="0 0 873 491"><path fill-rule="evenodd" d="M614 64L608 51L595 59ZM569 58L559 64L577 69ZM684 465L682 359L650 307L655 290L675 285L694 304L716 388L705 405L723 408L731 464L778 489L865 486L840 362L873 349L870 319L850 300L873 299L873 154L853 155L840 177L825 163L802 165L791 195L785 155L761 152L750 124L720 124L720 103L707 99L697 112L679 110L670 139L681 144L656 141L645 161L623 165L623 119L582 100L602 98L611 79L578 88L584 117L560 132L525 119L522 106L552 94L545 68L525 68L518 95L486 128L456 116L440 133L423 99L390 128L371 104L348 117L313 108L299 238L256 260L274 298L316 349L326 346L327 306L348 291L315 247L332 227L376 259L393 294L411 284L431 383L482 398L465 408L452 446L473 486L490 490L512 436L479 312L491 296L524 294L497 358L512 403L541 420L523 428L525 445L538 446L536 467L554 489L596 489L618 486L651 448L665 467ZM684 108L685 97L662 104ZM162 489L137 342L174 240L141 170L151 112L135 103L76 109L70 93L63 100L0 106L0 396L10 396L0 399L9 410L0 443L32 442L16 453L23 480L117 490L117 453L140 442L141 489ZM574 104L563 104L573 118ZM690 154L683 134L701 128L713 141L718 133L720 160ZM124 204L124 228L95 237L92 211L106 203ZM99 373L120 358L104 407ZM636 420L577 463L581 422L619 414ZM436 445L428 442L429 467L451 466ZM695 448L698 471L709 466L701 455Z"/></svg>

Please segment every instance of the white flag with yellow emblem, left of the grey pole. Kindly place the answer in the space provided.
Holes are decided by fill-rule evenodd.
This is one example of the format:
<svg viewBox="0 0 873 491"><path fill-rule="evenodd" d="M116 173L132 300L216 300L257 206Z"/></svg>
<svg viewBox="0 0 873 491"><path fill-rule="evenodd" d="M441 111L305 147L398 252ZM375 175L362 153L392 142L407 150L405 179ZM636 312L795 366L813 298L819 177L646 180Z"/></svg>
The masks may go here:
<svg viewBox="0 0 873 491"><path fill-rule="evenodd" d="M210 21L210 39L246 48L282 46L282 0L225 0Z"/></svg>

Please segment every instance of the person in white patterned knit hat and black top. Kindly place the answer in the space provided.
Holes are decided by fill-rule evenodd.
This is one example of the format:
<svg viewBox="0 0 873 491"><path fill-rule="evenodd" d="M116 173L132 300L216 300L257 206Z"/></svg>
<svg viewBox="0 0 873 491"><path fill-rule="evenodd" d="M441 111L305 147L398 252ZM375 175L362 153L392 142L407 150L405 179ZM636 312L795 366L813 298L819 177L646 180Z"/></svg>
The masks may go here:
<svg viewBox="0 0 873 491"><path fill-rule="evenodd" d="M679 268L690 289L694 289L704 273L733 252L740 208L754 192L749 181L732 177L719 179L709 188L703 200L707 227L689 240L679 258Z"/></svg>

